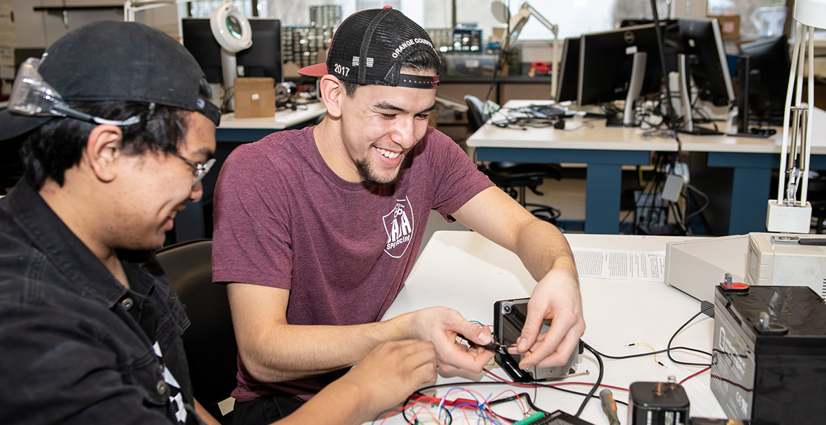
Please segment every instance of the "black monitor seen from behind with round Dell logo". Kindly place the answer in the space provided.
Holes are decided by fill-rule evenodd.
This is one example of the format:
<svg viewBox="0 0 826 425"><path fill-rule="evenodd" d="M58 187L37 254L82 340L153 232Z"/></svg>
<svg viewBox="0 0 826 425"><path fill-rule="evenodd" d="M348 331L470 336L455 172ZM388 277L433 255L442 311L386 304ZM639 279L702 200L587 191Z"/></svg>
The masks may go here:
<svg viewBox="0 0 826 425"><path fill-rule="evenodd" d="M662 68L654 25L629 26L613 31L583 34L580 41L580 106L624 99L629 92L635 53L646 53L640 94L662 89Z"/></svg>

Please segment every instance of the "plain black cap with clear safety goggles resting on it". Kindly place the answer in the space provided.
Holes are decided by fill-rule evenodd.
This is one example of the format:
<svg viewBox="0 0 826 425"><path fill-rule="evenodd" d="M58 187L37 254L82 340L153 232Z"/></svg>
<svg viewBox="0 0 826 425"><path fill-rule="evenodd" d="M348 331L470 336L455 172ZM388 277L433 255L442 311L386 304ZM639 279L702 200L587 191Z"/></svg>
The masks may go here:
<svg viewBox="0 0 826 425"><path fill-rule="evenodd" d="M65 101L134 101L199 111L218 125L217 106L199 96L205 78L192 54L164 32L137 22L95 21L45 51L38 73ZM11 101L11 99L10 99ZM58 116L0 112L0 140Z"/></svg>

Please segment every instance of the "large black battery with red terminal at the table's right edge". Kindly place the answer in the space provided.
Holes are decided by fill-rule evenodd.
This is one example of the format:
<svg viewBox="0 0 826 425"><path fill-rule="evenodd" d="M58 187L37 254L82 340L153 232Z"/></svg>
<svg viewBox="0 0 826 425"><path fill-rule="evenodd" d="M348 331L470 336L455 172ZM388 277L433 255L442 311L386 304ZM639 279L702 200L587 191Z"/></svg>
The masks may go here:
<svg viewBox="0 0 826 425"><path fill-rule="evenodd" d="M714 292L711 391L756 424L826 418L826 305L808 286Z"/></svg>

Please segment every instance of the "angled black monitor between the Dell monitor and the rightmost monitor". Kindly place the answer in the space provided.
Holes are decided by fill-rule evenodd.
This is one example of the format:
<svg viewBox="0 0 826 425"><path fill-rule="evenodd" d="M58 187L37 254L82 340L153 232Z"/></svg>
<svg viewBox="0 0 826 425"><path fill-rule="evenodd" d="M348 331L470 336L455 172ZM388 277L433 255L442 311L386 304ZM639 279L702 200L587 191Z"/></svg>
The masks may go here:
<svg viewBox="0 0 826 425"><path fill-rule="evenodd" d="M733 103L734 87L717 19L681 19L680 37L700 99L714 106Z"/></svg>

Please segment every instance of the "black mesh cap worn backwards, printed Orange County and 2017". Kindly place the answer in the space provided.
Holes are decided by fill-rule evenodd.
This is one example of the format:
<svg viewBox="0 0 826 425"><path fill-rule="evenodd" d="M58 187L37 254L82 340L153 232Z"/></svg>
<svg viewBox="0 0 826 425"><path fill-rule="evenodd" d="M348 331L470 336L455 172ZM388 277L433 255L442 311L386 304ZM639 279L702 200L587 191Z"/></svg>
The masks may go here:
<svg viewBox="0 0 826 425"><path fill-rule="evenodd" d="M366 9L341 22L327 51L326 64L310 65L298 73L307 77L331 74L357 84L435 88L439 75L401 73L401 64L418 51L433 54L439 62L430 35L409 17L390 6Z"/></svg>

